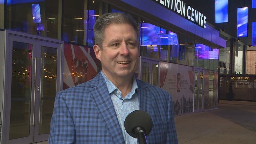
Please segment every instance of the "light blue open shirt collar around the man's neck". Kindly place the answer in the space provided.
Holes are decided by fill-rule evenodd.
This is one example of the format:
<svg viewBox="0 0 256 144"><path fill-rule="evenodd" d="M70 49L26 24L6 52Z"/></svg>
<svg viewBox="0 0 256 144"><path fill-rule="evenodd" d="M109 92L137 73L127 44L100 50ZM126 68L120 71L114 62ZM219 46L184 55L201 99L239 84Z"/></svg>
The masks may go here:
<svg viewBox="0 0 256 144"><path fill-rule="evenodd" d="M101 75L103 76L103 78L104 78L104 80L107 84L109 94L112 93L113 91L115 91L117 89L117 87L105 76L105 74L102 71L101 71ZM137 85L137 81L136 81L135 76L133 76L132 90L130 92L131 96L135 93L136 89L138 89L138 85ZM127 97L127 98L131 98L131 96Z"/></svg>

